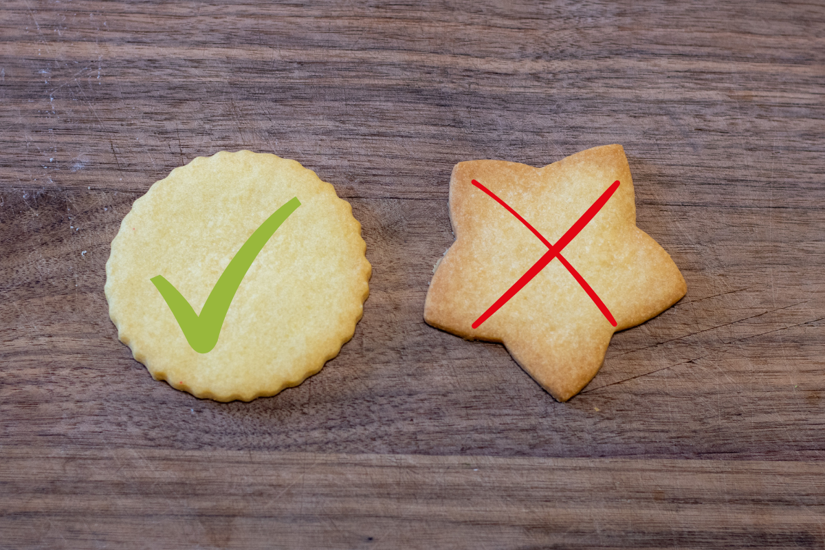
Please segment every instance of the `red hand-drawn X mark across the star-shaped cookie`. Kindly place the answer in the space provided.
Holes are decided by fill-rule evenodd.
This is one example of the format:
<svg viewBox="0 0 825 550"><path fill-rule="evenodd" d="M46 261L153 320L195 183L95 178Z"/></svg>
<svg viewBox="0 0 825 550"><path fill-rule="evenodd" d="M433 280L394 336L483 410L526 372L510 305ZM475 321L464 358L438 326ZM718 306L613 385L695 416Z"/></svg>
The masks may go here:
<svg viewBox="0 0 825 550"><path fill-rule="evenodd" d="M613 185L608 187L607 190L601 194L601 197L599 197L598 200L596 200L596 202L593 203L592 206L587 209L587 212L582 214L582 217L579 218L576 221L576 223L573 223L573 225L567 230L567 233L564 233L562 237L559 239L559 241L555 243L555 245L550 244L550 242L547 239L545 239L541 235L541 233L536 231L535 228L532 225L530 225L530 223L527 223L526 219L522 218L518 214L518 212L516 212L516 210L510 208L509 204L499 199L495 195L495 193L493 193L493 191L489 190L487 187L481 185L478 181L475 180L473 180L473 185L478 187L480 190L483 190L491 197L493 197L493 200L495 200L498 204L501 204L504 208L506 208L507 212L516 216L516 219L518 219L518 221L524 223L525 227L530 229L530 231L533 232L533 234L536 237L539 237L539 240L541 242L544 242L545 247L549 248L549 251L546 251L544 253L544 256L541 256L539 258L539 261L536 261L535 264L533 264L533 266L530 267L530 269L527 270L527 272L524 275L521 275L521 278L517 280L516 283L513 284L509 289L507 289L507 292L502 294L502 297L497 299L496 303L493 303L493 305L490 306L488 310L482 314L481 317L475 320L475 322L473 323L473 328L479 328L481 326L481 323L487 321L488 317L493 315L493 313L496 313L498 309L501 308L505 303L507 303L513 296L515 296L519 290L523 289L525 285L530 282L530 280L533 280L533 277L535 277L535 275L539 275L541 270L543 270L551 261L553 261L553 258L559 258L559 261L562 262L562 265L567 268L567 270L570 272L570 275L573 275L573 278L577 281L577 283L582 285L582 289L584 289L584 291L587 292L587 295L590 296L590 299L592 299L593 302L596 303L596 306L599 308L601 313L607 318L607 320L610 321L610 324L614 327L616 326L616 320L613 318L613 315L610 314L610 310L607 309L605 303L601 301L601 299L596 295L596 292L590 287L589 284L587 284L587 281L584 280L584 277L582 277L582 275L579 275L578 271L573 266L571 266L567 260L564 259L564 256L562 256L562 250L564 249L564 247L568 246L570 241L572 241L579 232L582 231L582 229L587 225L587 223L590 223L590 220L592 220L593 217L596 214L598 214L599 210L601 210L601 207L605 205L605 203L607 202L607 200L610 199L615 190L619 188L618 180L614 181Z"/></svg>

